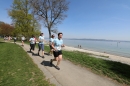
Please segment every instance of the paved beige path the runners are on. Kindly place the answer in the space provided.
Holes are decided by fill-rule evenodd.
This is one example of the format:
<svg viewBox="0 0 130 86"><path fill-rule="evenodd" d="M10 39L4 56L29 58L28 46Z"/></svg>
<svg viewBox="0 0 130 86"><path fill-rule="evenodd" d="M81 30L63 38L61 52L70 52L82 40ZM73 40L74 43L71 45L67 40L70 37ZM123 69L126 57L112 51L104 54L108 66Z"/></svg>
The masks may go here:
<svg viewBox="0 0 130 86"><path fill-rule="evenodd" d="M17 44L21 45L21 43ZM30 46L27 44L23 47L26 52L29 51L29 48ZM37 51L38 49L36 48L35 53ZM54 66L51 67L49 63L53 56L45 55L43 59L40 56L32 55L32 53L28 54L43 71L46 78L56 86L121 86L111 79L94 74L90 70L74 65L67 60L62 60L60 64L61 69L57 70Z"/></svg>

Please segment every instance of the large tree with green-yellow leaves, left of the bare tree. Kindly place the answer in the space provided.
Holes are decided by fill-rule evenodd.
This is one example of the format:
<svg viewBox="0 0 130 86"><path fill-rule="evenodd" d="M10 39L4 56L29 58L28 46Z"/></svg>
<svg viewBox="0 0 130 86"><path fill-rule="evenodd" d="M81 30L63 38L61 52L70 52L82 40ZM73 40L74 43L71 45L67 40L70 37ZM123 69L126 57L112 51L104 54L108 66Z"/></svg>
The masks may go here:
<svg viewBox="0 0 130 86"><path fill-rule="evenodd" d="M37 35L40 33L40 29L37 29L38 22L30 13L28 0L14 0L9 15L14 23L15 29L13 33L15 35L29 37L32 34Z"/></svg>

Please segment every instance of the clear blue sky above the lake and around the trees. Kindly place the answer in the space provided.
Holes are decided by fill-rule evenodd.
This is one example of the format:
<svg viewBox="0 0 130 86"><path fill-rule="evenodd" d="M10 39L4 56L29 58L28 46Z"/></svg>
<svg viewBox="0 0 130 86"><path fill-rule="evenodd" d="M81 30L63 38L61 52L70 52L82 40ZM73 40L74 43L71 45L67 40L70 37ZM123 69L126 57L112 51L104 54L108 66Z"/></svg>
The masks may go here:
<svg viewBox="0 0 130 86"><path fill-rule="evenodd" d="M130 0L68 0L67 17L57 25L63 38L130 41ZM13 0L0 0L0 21L11 23L7 9ZM48 30L41 31L48 37Z"/></svg>

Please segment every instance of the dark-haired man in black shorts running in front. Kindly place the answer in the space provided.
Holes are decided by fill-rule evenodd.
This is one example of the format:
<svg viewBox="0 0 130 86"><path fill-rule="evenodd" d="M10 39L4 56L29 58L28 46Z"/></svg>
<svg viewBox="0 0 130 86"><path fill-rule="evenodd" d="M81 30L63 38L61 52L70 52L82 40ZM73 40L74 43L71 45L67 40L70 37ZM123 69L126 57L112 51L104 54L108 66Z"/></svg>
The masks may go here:
<svg viewBox="0 0 130 86"><path fill-rule="evenodd" d="M62 50L61 50L61 47L65 47L65 45L63 44L62 36L63 36L62 33L58 33L58 38L56 38L52 42L54 59L50 60L50 64L52 65L53 61L57 61L56 69L58 69L58 70L60 70L59 64L60 64L60 62L62 60Z"/></svg>

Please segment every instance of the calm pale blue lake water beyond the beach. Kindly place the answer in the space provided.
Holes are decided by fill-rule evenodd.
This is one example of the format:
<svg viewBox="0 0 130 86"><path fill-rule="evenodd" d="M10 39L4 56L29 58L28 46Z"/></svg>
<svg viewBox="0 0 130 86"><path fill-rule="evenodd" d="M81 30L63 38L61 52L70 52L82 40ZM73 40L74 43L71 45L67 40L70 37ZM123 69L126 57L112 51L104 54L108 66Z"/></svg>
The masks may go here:
<svg viewBox="0 0 130 86"><path fill-rule="evenodd" d="M76 47L81 45L82 49L106 52L109 54L125 56L130 58L130 42L126 41L99 41L99 40L76 40L63 39L67 46Z"/></svg>

